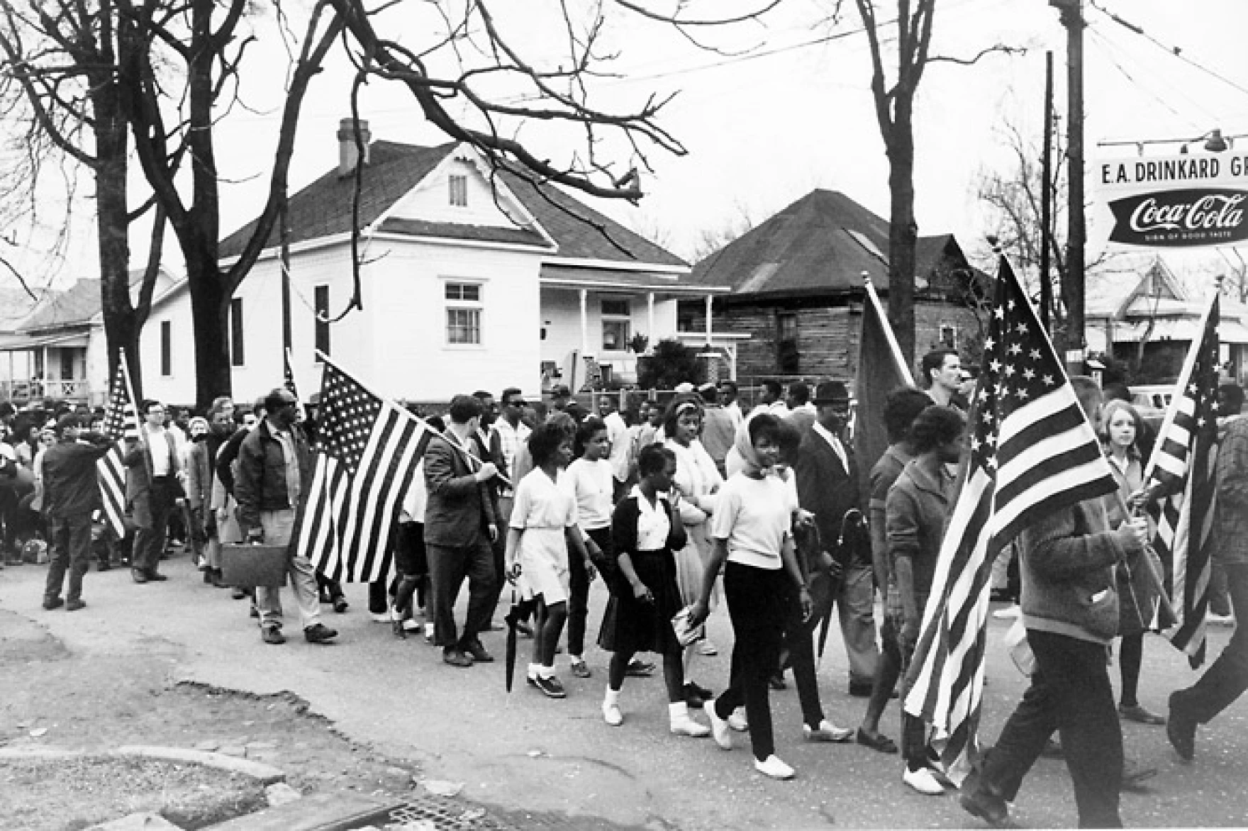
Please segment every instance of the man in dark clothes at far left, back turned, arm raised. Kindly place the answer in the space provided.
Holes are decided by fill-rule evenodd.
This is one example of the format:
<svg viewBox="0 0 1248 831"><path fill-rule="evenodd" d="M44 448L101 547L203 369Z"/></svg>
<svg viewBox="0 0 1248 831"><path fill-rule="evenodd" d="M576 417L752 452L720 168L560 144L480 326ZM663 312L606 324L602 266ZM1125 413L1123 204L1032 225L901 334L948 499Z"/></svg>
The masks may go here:
<svg viewBox="0 0 1248 831"><path fill-rule="evenodd" d="M91 558L91 512L100 502L95 462L109 447L105 435L82 434L77 415L57 419L56 444L44 453L44 513L51 543L44 609L64 605L66 611L77 611L86 605L82 575ZM62 600L66 569L70 580Z"/></svg>

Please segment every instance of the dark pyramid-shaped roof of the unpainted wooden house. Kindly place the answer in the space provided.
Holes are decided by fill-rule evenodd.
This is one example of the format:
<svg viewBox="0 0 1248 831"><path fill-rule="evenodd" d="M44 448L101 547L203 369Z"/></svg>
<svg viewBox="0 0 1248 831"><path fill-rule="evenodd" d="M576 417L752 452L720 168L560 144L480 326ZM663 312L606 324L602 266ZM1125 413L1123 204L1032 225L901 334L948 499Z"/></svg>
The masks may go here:
<svg viewBox="0 0 1248 831"><path fill-rule="evenodd" d="M731 286L733 296L824 294L861 288L866 271L887 291L887 221L844 193L815 190L698 262L689 282ZM921 237L916 273L932 273L946 256L962 258L952 235Z"/></svg>

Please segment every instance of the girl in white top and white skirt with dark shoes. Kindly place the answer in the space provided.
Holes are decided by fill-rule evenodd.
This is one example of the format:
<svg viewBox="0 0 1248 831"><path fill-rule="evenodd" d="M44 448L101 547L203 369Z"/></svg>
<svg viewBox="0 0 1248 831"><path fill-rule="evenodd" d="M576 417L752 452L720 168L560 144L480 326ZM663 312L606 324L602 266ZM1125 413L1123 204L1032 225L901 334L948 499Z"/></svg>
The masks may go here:
<svg viewBox="0 0 1248 831"><path fill-rule="evenodd" d="M507 532L507 573L525 598L537 601L529 684L552 699L567 696L554 674L554 653L568 619L568 555L594 565L577 527L577 503L558 487L559 469L572 460L572 438L558 424L545 423L528 442L533 470L515 489Z"/></svg>

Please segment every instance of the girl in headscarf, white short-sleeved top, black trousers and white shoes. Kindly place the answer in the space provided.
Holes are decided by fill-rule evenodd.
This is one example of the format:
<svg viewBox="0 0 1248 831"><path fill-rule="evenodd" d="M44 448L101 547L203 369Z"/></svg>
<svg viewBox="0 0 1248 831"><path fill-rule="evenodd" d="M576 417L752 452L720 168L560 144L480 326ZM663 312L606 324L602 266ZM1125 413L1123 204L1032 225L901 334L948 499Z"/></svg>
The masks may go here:
<svg viewBox="0 0 1248 831"><path fill-rule="evenodd" d="M768 679L779 666L792 591L797 588L801 614L806 618L810 590L790 534L796 505L786 484L771 473L780 457L779 429L775 417L760 414L738 432L736 447L746 468L720 489L710 528L714 553L689 618L693 625L706 619L715 574L726 560L724 595L736 644L729 688L705 705L711 732L720 747L730 750L728 717L744 704L755 769L773 779L791 779L792 767L775 755Z"/></svg>

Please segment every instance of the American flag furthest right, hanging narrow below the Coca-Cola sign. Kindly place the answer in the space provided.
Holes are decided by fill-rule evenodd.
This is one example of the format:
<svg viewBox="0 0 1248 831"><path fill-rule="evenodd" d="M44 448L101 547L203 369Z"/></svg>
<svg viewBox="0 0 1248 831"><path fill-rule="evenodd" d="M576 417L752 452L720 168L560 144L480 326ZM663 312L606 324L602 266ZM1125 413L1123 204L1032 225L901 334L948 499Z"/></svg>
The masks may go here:
<svg viewBox="0 0 1248 831"><path fill-rule="evenodd" d="M1188 352L1174 398L1153 445L1144 482L1166 494L1149 505L1157 525L1153 548L1172 575L1178 623L1166 631L1193 668L1204 661L1204 613L1209 604L1209 553L1218 458L1218 317L1214 294L1199 344Z"/></svg>

